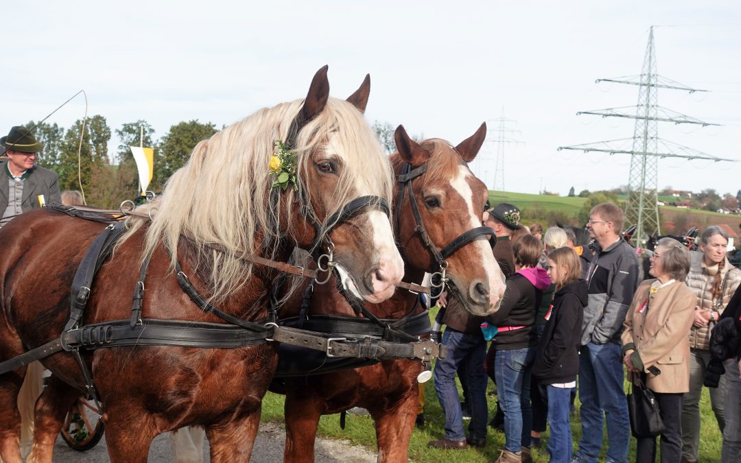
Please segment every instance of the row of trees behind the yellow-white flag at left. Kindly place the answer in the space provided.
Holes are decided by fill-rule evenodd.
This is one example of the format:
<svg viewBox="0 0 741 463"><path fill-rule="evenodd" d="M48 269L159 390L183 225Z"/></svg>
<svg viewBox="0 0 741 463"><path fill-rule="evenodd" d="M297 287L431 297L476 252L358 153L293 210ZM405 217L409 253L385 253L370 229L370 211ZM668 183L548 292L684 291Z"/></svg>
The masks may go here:
<svg viewBox="0 0 741 463"><path fill-rule="evenodd" d="M154 175L151 190L162 190L162 185L172 173L185 164L193 147L201 140L216 133L216 125L197 120L183 121L170 127L165 136L154 138L154 130L147 121L123 124L115 130L119 145L108 156L113 132L103 116L87 119L82 141L83 120L75 121L66 130L58 124L43 122L36 127L35 121L26 124L36 127L36 139L44 144L38 163L59 175L61 190L82 190L87 204L96 207L116 208L124 199L133 199L139 194L139 177L136 163L129 146L154 147Z"/></svg>

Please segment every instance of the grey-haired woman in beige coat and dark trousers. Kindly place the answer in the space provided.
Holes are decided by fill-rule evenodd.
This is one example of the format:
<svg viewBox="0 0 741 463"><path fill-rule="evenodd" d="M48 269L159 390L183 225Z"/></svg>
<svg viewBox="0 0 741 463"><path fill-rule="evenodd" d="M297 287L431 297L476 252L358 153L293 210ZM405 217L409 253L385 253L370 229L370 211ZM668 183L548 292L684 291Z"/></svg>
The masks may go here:
<svg viewBox="0 0 741 463"><path fill-rule="evenodd" d="M639 285L625 316L623 363L628 379L642 379L659 403L665 430L661 435L661 462L677 463L682 455L682 395L689 390L688 330L695 297L684 283L690 267L688 250L677 240L659 240L649 273L656 279ZM656 459L656 439L638 439L636 462Z"/></svg>

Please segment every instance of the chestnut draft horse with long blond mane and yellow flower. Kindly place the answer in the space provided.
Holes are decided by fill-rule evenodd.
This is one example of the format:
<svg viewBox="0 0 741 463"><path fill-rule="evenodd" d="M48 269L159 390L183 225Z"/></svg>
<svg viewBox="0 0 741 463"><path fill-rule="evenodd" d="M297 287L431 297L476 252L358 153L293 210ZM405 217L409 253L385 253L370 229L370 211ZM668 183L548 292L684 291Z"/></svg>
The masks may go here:
<svg viewBox="0 0 741 463"><path fill-rule="evenodd" d="M279 276L260 258L285 260L296 246L314 253L333 247L350 293L371 302L390 297L403 262L380 210L391 201L391 168L361 112L369 86L366 77L348 101L329 98L323 67L306 99L259 110L200 142L150 204L152 220L127 219L127 232L90 285L82 322L123 319L128 328L131 319L144 334L155 330L154 322L170 323L163 321L185 321L183 333L203 322L225 326L179 287L182 275L227 317L258 321L266 316L269 290ZM295 156L296 190L271 187L275 178L268 164L275 141L282 140ZM371 206L350 218L341 214L359 196L374 198L366 200ZM103 227L38 210L0 230L0 360L60 339L70 319L73 275ZM150 264L139 319L132 316L131 298L144 256ZM176 264L182 268L177 278ZM81 350L87 368L73 351L48 356L41 362L53 376L36 404L29 461L52 461L62 419L87 387L87 370L103 404L112 462L144 463L155 436L191 424L205 427L212 462L247 462L276 351L265 339L236 348L135 344ZM25 370L0 375L5 463L21 462L16 395Z"/></svg>

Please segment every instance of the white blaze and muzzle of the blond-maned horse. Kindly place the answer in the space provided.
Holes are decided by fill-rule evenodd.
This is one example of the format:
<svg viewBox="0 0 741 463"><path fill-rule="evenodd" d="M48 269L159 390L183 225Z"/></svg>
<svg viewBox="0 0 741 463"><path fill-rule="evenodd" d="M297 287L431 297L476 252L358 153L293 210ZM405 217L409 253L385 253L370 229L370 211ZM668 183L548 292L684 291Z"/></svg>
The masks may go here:
<svg viewBox="0 0 741 463"><path fill-rule="evenodd" d="M335 139L336 135L333 134L325 147L325 156L336 156L342 159L342 150L336 147ZM383 175L383 173L359 172L353 176L353 191L350 199L360 196L379 196L379 187L371 181L373 175ZM404 276L404 261L396 247L391 221L380 210L367 210L353 217L349 222L344 227L352 227L356 235L371 236L373 247L366 249L357 246L359 242L367 243L367 239L354 242L341 242L333 239L336 244L335 260L338 262L337 270L342 284L346 290L358 298L374 304L383 302L393 296L396 284L399 284ZM353 271L369 267L371 270L365 272L364 275Z"/></svg>

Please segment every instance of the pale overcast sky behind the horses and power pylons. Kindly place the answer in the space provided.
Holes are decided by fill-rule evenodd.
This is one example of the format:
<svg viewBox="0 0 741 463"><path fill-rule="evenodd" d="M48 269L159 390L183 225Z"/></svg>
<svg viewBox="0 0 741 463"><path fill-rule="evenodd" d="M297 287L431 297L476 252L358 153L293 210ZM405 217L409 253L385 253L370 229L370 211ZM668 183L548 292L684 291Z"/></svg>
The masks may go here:
<svg viewBox="0 0 741 463"><path fill-rule="evenodd" d="M659 90L659 105L722 127L660 124L659 136L741 160L741 2L16 1L0 13L0 132L38 121L78 90L112 130L144 119L217 127L305 96L329 64L345 98L371 74L368 120L458 144L488 121L506 190L565 195L628 183L630 156L557 151L633 136L632 119L577 111L635 106L654 29L658 73L711 93ZM49 122L84 116L77 97ZM514 121L514 122L513 122ZM114 138L110 150L116 150ZM473 162L494 184L497 145ZM501 179L501 178L500 178ZM659 187L736 193L741 163L663 159ZM499 183L499 182L498 182Z"/></svg>

